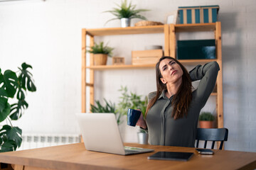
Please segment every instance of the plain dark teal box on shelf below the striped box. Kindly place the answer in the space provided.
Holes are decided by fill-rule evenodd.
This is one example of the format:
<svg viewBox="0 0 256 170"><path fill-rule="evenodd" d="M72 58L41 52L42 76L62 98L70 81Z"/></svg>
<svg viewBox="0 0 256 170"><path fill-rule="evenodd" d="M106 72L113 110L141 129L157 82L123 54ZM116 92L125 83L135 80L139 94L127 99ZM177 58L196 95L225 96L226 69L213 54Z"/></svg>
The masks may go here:
<svg viewBox="0 0 256 170"><path fill-rule="evenodd" d="M215 59L215 40L178 40L177 59Z"/></svg>

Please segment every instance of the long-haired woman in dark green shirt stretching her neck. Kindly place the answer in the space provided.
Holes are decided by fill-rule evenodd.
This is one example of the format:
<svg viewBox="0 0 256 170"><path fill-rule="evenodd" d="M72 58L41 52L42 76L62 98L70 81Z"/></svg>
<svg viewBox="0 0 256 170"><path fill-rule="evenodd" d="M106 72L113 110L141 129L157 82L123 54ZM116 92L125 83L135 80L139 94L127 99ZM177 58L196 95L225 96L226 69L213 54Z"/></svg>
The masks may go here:
<svg viewBox="0 0 256 170"><path fill-rule="evenodd" d="M149 94L146 119L137 125L149 130L149 144L194 147L198 116L215 86L217 62L198 65L188 73L173 57L156 64L156 92ZM191 81L201 80L192 92Z"/></svg>

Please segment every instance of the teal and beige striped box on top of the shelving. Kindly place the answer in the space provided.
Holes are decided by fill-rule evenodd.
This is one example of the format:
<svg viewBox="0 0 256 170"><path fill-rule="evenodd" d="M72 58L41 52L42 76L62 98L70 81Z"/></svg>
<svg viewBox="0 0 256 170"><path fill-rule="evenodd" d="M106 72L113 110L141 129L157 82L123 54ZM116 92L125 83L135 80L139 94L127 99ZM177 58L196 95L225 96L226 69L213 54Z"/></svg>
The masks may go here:
<svg viewBox="0 0 256 170"><path fill-rule="evenodd" d="M215 23L219 6L178 7L178 23Z"/></svg>

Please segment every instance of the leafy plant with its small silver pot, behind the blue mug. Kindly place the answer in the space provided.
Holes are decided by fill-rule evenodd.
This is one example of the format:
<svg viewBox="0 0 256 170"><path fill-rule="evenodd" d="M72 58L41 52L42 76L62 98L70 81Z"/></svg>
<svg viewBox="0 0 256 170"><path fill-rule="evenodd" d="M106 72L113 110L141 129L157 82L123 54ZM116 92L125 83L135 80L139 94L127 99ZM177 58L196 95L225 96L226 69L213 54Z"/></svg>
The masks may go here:
<svg viewBox="0 0 256 170"><path fill-rule="evenodd" d="M121 86L122 96L120 97L122 101L118 103L117 111L122 115L127 115L128 108L139 109L142 111L143 116L145 116L147 98L142 99L142 96L138 96L132 92L128 93L127 87ZM146 130L142 128L137 132L138 143L139 144L148 144L149 134Z"/></svg>

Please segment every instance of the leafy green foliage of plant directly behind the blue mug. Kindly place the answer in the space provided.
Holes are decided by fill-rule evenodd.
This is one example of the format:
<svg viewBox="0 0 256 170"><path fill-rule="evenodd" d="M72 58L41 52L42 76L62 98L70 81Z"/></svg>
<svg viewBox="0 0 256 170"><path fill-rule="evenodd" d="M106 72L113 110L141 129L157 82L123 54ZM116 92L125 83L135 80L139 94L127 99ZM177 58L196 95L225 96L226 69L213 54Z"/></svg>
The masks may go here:
<svg viewBox="0 0 256 170"><path fill-rule="evenodd" d="M127 115L128 108L139 109L142 114L146 113L147 97L139 96L135 93L128 92L127 86L121 86L119 91L122 92L122 96L119 98L121 101L118 103L117 111L122 115Z"/></svg>

